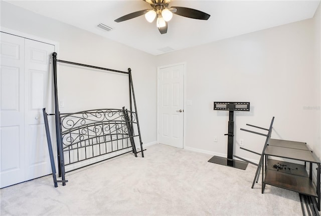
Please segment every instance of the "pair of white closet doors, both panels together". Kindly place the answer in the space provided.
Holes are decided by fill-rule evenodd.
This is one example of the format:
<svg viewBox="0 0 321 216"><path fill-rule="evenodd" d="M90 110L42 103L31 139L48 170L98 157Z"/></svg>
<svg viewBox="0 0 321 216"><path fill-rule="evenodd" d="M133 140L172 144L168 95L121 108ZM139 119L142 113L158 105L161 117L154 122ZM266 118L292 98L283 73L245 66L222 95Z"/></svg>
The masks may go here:
<svg viewBox="0 0 321 216"><path fill-rule="evenodd" d="M52 111L54 48L1 33L1 188L52 173L42 109Z"/></svg>

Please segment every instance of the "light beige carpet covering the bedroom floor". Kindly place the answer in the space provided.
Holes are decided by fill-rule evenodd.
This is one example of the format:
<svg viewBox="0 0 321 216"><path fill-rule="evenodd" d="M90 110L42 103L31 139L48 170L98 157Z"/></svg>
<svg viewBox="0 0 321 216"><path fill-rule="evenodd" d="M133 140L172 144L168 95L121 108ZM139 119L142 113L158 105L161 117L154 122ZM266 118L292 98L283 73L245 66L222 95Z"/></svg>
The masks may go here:
<svg viewBox="0 0 321 216"><path fill-rule="evenodd" d="M298 193L261 183L246 170L207 162L212 156L152 145L67 173L3 188L1 215L302 215ZM261 179L260 179L261 181Z"/></svg>

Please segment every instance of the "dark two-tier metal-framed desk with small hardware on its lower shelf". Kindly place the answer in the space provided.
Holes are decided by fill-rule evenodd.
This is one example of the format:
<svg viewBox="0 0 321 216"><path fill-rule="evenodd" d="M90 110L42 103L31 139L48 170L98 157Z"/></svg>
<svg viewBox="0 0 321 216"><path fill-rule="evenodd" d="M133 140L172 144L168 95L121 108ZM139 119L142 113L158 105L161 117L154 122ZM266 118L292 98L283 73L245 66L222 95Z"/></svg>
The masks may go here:
<svg viewBox="0 0 321 216"><path fill-rule="evenodd" d="M269 159L269 156L303 161L304 165ZM265 184L269 184L314 196L317 198L317 208L320 210L320 161L313 157L306 143L270 139L264 151L264 157L265 163L262 163L262 193ZM309 174L306 172L306 162L309 163ZM316 188L312 184L313 163L317 166ZM278 164L280 169L273 168L275 164Z"/></svg>

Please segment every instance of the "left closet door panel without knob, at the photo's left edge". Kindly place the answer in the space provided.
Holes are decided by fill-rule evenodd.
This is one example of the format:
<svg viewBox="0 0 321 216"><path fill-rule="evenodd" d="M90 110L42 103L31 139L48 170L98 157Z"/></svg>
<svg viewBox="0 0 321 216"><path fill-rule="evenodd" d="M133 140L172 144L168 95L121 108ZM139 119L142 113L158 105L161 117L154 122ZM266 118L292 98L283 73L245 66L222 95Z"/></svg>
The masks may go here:
<svg viewBox="0 0 321 216"><path fill-rule="evenodd" d="M1 33L1 187L25 179L24 43Z"/></svg>

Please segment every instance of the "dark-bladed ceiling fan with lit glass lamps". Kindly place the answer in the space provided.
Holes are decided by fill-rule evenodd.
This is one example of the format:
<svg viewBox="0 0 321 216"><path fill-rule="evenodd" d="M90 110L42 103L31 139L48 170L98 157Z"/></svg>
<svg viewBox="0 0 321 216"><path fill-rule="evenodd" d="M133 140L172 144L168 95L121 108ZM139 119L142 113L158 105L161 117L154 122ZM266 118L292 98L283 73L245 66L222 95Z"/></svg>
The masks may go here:
<svg viewBox="0 0 321 216"><path fill-rule="evenodd" d="M167 33L167 22L169 22L173 14L180 15L183 17L188 17L192 19L198 20L208 20L211 15L204 13L202 11L198 11L191 8L184 7L171 7L169 8L169 4L171 0L143 0L144 2L150 4L150 10L141 10L136 11L125 16L122 16L115 20L115 22L119 23L122 21L130 20L141 15L145 15L146 20L151 23L156 19L156 26L161 34Z"/></svg>

